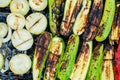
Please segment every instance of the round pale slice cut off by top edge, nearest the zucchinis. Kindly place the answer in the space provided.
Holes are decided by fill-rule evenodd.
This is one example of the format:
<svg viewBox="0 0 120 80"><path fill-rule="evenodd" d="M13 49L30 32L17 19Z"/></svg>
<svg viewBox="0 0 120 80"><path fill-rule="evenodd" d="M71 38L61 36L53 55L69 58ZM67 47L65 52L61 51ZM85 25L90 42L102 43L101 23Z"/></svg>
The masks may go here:
<svg viewBox="0 0 120 80"><path fill-rule="evenodd" d="M29 4L33 10L41 11L47 7L47 0L29 0Z"/></svg>

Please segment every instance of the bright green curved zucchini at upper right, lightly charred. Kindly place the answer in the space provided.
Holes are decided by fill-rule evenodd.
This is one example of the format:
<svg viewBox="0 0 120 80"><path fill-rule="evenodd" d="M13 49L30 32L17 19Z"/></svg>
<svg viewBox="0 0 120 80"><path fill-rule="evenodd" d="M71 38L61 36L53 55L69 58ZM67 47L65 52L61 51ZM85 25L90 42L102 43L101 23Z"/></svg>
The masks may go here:
<svg viewBox="0 0 120 80"><path fill-rule="evenodd" d="M96 41L102 42L108 37L114 19L114 14L115 0L106 0L102 19L95 37Z"/></svg>

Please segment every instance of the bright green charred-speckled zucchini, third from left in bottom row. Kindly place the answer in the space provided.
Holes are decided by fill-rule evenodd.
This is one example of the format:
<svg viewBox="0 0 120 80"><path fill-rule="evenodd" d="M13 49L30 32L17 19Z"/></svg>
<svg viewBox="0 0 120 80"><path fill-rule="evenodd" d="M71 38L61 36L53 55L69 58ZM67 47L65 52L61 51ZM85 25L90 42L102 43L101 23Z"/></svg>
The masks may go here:
<svg viewBox="0 0 120 80"><path fill-rule="evenodd" d="M74 68L78 46L79 36L72 34L69 37L66 51L64 55L61 56L60 62L57 67L57 76L60 80L68 80L68 78L70 77Z"/></svg>

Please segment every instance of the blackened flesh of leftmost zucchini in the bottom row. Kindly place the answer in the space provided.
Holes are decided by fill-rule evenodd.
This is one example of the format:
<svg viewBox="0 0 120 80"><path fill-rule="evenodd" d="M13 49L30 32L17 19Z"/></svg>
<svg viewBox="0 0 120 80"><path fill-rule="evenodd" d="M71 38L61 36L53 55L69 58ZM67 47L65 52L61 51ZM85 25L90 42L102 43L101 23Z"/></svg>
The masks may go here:
<svg viewBox="0 0 120 80"><path fill-rule="evenodd" d="M48 50L50 40L51 40L50 33L45 32L40 36L39 41L37 42L37 50L36 50L36 57L37 57L36 68L37 69L41 67L41 64Z"/></svg>

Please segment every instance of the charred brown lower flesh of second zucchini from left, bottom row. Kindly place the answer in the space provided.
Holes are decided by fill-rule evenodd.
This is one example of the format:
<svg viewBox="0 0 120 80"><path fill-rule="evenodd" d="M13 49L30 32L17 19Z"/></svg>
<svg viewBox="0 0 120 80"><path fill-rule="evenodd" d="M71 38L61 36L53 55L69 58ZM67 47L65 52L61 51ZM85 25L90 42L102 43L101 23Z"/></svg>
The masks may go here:
<svg viewBox="0 0 120 80"><path fill-rule="evenodd" d="M56 73L55 68L59 58L60 58L60 55L57 55L57 54L50 53L49 55L46 72L49 72L50 77L55 77L55 73Z"/></svg>

